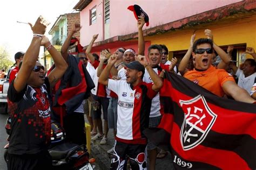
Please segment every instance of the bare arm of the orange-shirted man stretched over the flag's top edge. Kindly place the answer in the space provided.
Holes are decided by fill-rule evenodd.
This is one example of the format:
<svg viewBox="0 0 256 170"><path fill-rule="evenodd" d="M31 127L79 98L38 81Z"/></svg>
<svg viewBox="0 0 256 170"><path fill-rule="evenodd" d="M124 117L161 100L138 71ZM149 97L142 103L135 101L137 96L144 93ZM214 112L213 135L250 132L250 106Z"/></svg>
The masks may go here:
<svg viewBox="0 0 256 170"><path fill-rule="evenodd" d="M227 81L222 86L227 95L230 95L236 101L253 103L255 100L247 93L245 89L240 88L233 81Z"/></svg>

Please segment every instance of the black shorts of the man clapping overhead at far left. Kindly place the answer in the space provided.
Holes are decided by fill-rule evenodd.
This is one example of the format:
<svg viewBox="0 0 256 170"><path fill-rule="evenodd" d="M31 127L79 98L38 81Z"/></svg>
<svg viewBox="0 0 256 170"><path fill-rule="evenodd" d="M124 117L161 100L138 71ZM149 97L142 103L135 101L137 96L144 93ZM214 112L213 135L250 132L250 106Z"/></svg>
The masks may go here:
<svg viewBox="0 0 256 170"><path fill-rule="evenodd" d="M52 159L48 151L38 154L7 154L7 167L8 170L43 170L52 169Z"/></svg>

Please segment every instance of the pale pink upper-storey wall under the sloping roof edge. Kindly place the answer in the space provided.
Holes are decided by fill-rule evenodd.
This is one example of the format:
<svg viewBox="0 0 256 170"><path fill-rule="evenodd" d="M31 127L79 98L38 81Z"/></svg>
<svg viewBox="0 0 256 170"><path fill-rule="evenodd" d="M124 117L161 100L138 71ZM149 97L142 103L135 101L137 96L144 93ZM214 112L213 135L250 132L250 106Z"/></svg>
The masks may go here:
<svg viewBox="0 0 256 170"><path fill-rule="evenodd" d="M196 15L201 12L219 8L242 0L111 0L110 1L110 37L122 36L137 32L137 23L133 12L127 10L129 5L138 4L150 17L150 27L166 24ZM97 23L89 26L89 10L97 5ZM81 42L89 44L93 34L99 33L97 41L103 40L103 5L99 0L93 0L80 14Z"/></svg>

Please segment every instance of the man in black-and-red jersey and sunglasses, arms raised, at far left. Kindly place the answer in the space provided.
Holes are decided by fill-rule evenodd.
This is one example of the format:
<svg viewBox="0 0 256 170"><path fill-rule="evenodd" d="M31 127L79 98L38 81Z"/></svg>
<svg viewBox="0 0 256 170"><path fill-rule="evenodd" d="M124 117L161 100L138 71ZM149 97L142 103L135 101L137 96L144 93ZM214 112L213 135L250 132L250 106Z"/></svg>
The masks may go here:
<svg viewBox="0 0 256 170"><path fill-rule="evenodd" d="M8 109L11 117L8 169L51 169L48 152L51 142L50 87L62 77L68 67L61 54L43 36L45 20L39 17L34 26L31 44L21 68L8 89ZM44 67L37 57L40 46L48 49L55 69L45 77Z"/></svg>

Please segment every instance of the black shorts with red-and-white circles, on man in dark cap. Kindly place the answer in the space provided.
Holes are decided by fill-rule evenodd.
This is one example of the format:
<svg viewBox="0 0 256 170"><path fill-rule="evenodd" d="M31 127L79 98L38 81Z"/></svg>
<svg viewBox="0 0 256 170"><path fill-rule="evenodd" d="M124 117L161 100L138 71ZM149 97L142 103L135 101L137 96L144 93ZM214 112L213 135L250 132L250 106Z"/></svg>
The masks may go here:
<svg viewBox="0 0 256 170"><path fill-rule="evenodd" d="M120 141L116 141L114 144L110 169L123 169L126 155L130 158L131 169L146 169L146 145L126 144Z"/></svg>

